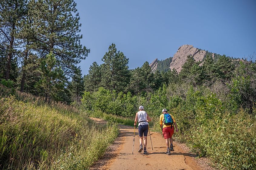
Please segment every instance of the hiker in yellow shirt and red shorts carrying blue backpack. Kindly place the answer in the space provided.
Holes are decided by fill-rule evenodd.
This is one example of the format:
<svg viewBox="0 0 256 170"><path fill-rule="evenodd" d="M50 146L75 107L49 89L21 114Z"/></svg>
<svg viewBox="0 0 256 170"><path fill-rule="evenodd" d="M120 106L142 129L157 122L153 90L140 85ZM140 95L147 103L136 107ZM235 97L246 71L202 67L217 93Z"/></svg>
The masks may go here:
<svg viewBox="0 0 256 170"><path fill-rule="evenodd" d="M171 123L171 125L165 125L165 123L164 123L164 114L168 114L166 109L162 110L162 114L160 115L159 122L160 122L160 126L161 126L161 129L162 129L163 136L165 138L166 147L167 147L166 154L171 155L171 151L174 151L173 144L172 144L172 135L174 133L173 124L175 125L176 132L178 132L178 127L177 127L177 124L176 124L176 121L175 121L174 117L171 114L170 114L170 116L173 120L173 123ZM170 147L169 147L169 141L170 141Z"/></svg>

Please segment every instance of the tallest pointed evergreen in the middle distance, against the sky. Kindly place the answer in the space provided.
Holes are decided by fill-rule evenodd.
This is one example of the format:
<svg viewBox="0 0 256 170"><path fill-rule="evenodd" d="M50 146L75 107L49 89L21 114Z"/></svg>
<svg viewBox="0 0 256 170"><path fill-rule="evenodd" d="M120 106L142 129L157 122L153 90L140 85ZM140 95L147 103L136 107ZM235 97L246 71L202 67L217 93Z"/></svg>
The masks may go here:
<svg viewBox="0 0 256 170"><path fill-rule="evenodd" d="M108 47L108 52L102 58L101 84L106 89L124 91L129 83L128 58L117 51L115 44Z"/></svg>

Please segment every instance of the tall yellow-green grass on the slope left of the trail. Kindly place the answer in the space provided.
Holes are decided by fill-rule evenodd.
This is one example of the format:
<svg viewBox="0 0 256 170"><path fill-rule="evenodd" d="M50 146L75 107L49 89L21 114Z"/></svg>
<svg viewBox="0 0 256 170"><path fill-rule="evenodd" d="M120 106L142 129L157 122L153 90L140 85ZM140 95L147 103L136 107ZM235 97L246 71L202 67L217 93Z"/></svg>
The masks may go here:
<svg viewBox="0 0 256 170"><path fill-rule="evenodd" d="M116 124L97 125L63 103L0 99L0 169L88 169L117 135Z"/></svg>

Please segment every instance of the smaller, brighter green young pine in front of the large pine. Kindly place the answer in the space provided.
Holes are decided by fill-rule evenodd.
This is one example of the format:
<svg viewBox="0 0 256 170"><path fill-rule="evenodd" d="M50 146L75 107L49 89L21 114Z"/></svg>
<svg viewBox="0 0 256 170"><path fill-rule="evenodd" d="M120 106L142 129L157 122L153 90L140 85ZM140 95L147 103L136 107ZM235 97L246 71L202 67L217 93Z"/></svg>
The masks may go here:
<svg viewBox="0 0 256 170"><path fill-rule="evenodd" d="M39 71L41 79L36 88L44 94L45 100L52 98L55 101L63 101L60 94L64 93L67 79L61 67L56 66L55 55L52 52L42 59Z"/></svg>

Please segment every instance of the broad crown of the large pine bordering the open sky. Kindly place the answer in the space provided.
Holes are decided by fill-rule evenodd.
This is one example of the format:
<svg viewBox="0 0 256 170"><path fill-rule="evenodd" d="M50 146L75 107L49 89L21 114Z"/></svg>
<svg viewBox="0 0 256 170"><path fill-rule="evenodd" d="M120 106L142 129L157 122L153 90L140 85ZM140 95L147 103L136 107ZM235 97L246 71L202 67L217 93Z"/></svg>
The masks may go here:
<svg viewBox="0 0 256 170"><path fill-rule="evenodd" d="M52 51L56 64L72 77L76 65L90 52L80 43L81 24L74 0L31 0L28 12L36 29L38 56L45 57Z"/></svg>

